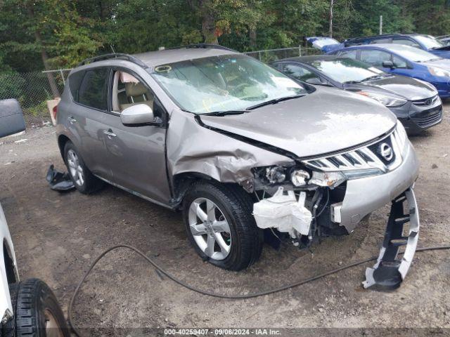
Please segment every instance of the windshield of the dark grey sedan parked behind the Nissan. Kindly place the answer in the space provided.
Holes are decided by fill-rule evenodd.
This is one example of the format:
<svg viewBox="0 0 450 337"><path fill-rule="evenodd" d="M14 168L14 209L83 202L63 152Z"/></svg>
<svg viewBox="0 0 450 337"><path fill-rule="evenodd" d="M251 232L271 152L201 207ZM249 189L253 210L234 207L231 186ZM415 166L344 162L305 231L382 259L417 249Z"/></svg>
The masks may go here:
<svg viewBox="0 0 450 337"><path fill-rule="evenodd" d="M310 62L309 65L341 83L360 82L370 77L385 76L385 72L371 67L371 65L367 65L366 63L352 60L351 58L315 60Z"/></svg>

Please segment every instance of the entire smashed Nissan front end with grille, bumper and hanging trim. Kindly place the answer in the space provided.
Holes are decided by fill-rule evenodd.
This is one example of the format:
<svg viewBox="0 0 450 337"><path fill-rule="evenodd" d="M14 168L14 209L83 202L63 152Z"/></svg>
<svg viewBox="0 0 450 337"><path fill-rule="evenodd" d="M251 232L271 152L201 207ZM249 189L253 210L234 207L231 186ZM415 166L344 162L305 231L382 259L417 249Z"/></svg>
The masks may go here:
<svg viewBox="0 0 450 337"><path fill-rule="evenodd" d="M292 166L260 167L253 173L258 227L285 233L299 247L309 247L321 237L348 234L364 217L392 201L380 257L368 268L364 287L399 286L411 265L419 230L412 189L418 161L400 124L366 145ZM404 230L408 222L409 232ZM406 249L398 260L401 246Z"/></svg>

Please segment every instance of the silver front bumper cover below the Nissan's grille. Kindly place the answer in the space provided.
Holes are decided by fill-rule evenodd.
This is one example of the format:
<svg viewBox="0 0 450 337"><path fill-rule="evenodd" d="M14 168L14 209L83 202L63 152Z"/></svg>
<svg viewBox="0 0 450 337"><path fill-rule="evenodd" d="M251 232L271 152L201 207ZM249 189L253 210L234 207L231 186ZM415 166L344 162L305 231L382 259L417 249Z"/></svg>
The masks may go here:
<svg viewBox="0 0 450 337"><path fill-rule="evenodd" d="M393 171L347 181L342 203L331 205L332 220L352 232L369 213L389 204L408 190L418 177L419 164L413 146L406 140L402 162Z"/></svg>

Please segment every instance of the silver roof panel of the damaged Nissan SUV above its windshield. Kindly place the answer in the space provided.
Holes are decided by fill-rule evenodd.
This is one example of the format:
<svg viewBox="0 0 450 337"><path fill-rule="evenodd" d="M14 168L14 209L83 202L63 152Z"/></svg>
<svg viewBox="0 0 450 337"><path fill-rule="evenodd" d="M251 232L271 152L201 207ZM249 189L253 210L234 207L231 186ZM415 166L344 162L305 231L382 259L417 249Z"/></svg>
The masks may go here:
<svg viewBox="0 0 450 337"><path fill-rule="evenodd" d="M219 48L178 48L166 49L164 51L149 51L147 53L135 54L134 56L150 67L156 67L158 65L166 65L167 63L184 60L232 54L238 53Z"/></svg>

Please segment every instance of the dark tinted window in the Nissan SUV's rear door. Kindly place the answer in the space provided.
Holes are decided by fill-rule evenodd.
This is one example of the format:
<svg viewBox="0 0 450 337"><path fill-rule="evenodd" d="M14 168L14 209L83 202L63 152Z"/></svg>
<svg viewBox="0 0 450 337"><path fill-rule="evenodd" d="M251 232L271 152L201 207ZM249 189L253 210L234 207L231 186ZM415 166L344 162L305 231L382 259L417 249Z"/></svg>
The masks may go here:
<svg viewBox="0 0 450 337"><path fill-rule="evenodd" d="M78 89L78 103L108 110L108 68L88 70Z"/></svg>

